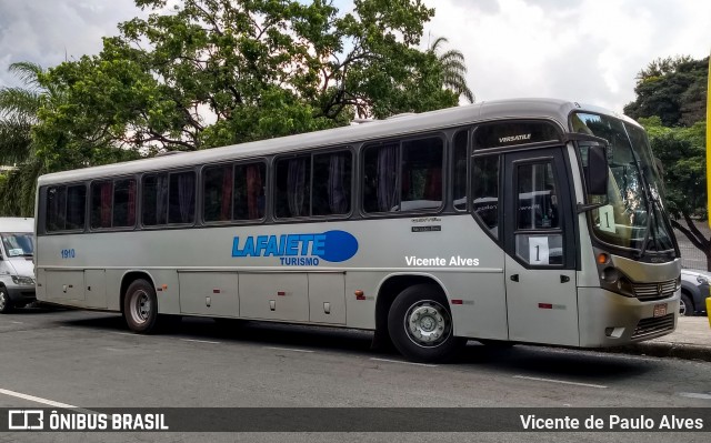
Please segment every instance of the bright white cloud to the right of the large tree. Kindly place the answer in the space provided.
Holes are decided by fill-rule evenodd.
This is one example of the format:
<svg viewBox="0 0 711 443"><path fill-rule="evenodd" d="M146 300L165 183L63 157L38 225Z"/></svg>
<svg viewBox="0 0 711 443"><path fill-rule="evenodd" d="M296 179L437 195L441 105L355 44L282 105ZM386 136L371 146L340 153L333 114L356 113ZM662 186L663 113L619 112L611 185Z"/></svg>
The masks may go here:
<svg viewBox="0 0 711 443"><path fill-rule="evenodd" d="M621 111L650 61L703 58L711 42L711 2L425 1L437 10L427 31L464 53L479 101L554 97Z"/></svg>

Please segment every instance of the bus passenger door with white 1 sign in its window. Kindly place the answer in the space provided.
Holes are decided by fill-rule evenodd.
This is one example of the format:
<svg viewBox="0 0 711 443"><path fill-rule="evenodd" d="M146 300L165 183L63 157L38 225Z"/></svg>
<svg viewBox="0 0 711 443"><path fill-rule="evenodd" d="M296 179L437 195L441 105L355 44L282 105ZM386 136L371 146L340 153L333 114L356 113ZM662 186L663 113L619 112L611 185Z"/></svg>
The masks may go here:
<svg viewBox="0 0 711 443"><path fill-rule="evenodd" d="M509 340L579 345L575 213L562 148L503 158Z"/></svg>

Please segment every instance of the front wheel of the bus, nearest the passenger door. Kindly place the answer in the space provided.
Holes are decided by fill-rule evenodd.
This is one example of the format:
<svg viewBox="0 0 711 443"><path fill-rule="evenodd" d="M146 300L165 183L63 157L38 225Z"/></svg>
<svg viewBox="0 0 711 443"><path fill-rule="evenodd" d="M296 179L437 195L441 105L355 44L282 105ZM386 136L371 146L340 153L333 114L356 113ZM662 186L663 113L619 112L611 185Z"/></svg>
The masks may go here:
<svg viewBox="0 0 711 443"><path fill-rule="evenodd" d="M434 284L415 284L402 291L390 306L388 332L398 351L418 362L451 359L467 343L454 336L447 298Z"/></svg>

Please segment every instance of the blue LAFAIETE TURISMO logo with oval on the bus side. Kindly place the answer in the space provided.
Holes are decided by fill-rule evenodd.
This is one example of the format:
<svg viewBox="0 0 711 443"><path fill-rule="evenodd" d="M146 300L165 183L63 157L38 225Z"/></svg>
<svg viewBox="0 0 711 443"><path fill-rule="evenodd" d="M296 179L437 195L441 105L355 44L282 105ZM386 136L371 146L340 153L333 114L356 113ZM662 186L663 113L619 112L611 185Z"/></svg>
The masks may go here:
<svg viewBox="0 0 711 443"><path fill-rule="evenodd" d="M358 240L346 231L236 236L232 256L274 256L282 266L318 266L343 262L358 252Z"/></svg>

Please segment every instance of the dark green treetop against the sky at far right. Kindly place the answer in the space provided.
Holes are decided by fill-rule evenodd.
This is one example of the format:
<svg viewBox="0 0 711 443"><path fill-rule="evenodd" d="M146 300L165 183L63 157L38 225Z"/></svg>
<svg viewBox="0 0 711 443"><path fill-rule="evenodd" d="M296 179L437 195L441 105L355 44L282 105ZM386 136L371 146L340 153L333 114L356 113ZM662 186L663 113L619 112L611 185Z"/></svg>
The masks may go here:
<svg viewBox="0 0 711 443"><path fill-rule="evenodd" d="M658 59L637 77L637 99L624 107L633 119L657 115L665 127L693 125L705 117L709 59Z"/></svg>

